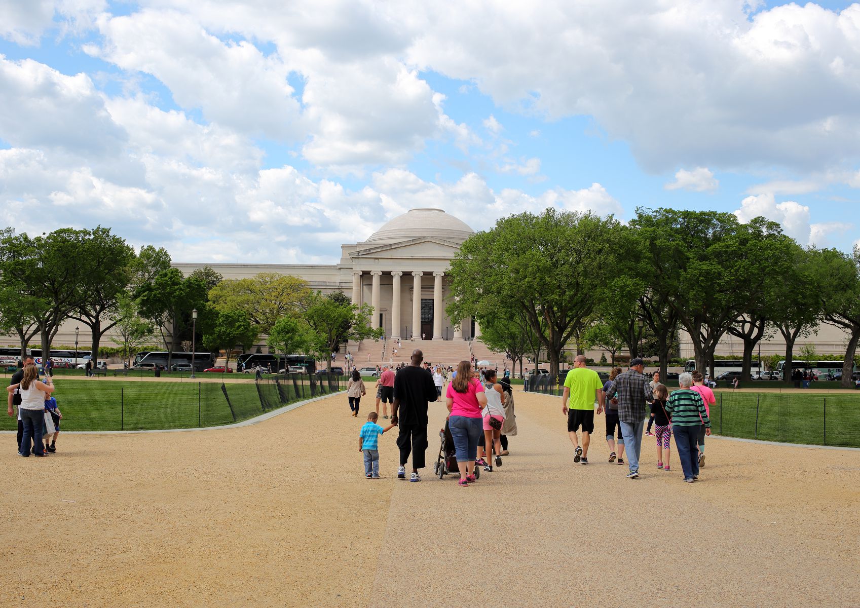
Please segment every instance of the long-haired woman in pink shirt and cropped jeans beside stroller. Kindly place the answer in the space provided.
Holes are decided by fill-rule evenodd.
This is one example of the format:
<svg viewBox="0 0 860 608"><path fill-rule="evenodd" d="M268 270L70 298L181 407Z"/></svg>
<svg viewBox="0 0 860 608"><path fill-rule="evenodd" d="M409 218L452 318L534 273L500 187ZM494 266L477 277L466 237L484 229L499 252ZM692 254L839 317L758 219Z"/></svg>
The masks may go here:
<svg viewBox="0 0 860 608"><path fill-rule="evenodd" d="M448 406L448 427L454 439L454 449L457 451L457 468L460 470L459 484L463 487L475 481L475 457L478 451L478 439L483 433L483 415L481 410L487 405L484 387L472 375L472 364L460 361L457 367L457 377L448 384L445 393Z"/></svg>

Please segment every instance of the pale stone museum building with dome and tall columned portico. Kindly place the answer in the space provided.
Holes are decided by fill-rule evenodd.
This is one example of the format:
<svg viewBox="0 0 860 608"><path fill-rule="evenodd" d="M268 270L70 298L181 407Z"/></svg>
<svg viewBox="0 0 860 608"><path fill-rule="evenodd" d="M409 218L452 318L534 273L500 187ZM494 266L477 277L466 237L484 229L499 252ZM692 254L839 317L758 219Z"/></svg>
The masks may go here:
<svg viewBox="0 0 860 608"><path fill-rule="evenodd" d="M372 327L390 340L462 340L480 335L476 323L455 327L445 315L451 258L473 230L441 209L412 209L367 238L341 245L341 261L327 265L210 264L224 279L257 273L292 274L314 291L341 291L371 304ZM203 264L174 263L188 274Z"/></svg>

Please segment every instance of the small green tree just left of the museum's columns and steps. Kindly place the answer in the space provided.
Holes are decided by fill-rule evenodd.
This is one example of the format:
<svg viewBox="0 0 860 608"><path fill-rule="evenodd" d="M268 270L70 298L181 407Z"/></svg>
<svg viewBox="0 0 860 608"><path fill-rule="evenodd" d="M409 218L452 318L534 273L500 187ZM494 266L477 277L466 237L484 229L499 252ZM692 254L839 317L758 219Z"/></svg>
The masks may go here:
<svg viewBox="0 0 860 608"><path fill-rule="evenodd" d="M370 326L373 312L370 304L358 306L350 300L339 298L335 293L322 295L316 292L307 298L304 321L310 326L309 350L326 360L326 369L331 372L331 353L342 341L378 340L384 330Z"/></svg>

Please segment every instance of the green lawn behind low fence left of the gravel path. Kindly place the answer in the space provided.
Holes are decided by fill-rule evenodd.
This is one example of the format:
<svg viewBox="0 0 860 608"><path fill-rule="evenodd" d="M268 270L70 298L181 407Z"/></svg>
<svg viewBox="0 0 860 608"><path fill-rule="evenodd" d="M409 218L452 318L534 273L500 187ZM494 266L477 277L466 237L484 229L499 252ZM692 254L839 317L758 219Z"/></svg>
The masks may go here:
<svg viewBox="0 0 860 608"><path fill-rule="evenodd" d="M314 395L322 394L321 388L329 392L322 383L316 385ZM58 385L55 395L63 413L63 431L213 427L232 423L234 415L236 421L247 420L313 396L307 381L293 382L289 377L260 383L251 377L236 384L69 380ZM13 430L16 425L15 418L0 417L0 430Z"/></svg>

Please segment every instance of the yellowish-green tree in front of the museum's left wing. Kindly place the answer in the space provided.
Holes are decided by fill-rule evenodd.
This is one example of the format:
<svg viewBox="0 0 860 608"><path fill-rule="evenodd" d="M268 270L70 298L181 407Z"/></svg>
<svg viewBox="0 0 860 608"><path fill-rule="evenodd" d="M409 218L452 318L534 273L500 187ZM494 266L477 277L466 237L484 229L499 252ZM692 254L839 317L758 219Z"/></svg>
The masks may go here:
<svg viewBox="0 0 860 608"><path fill-rule="evenodd" d="M216 309L244 310L263 334L268 334L280 317L297 313L309 295L307 281L279 273L224 279L209 291Z"/></svg>

